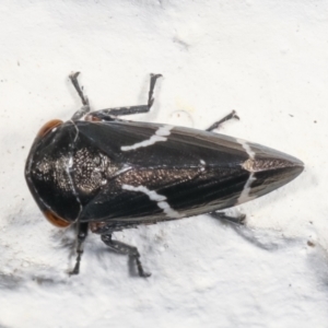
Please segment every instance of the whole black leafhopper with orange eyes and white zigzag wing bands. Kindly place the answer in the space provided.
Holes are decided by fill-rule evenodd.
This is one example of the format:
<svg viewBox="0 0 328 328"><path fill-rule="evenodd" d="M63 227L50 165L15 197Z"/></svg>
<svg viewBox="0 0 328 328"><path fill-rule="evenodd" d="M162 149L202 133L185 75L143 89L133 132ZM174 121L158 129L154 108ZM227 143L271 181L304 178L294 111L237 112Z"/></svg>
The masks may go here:
<svg viewBox="0 0 328 328"><path fill-rule="evenodd" d="M79 81L70 75L82 108L70 120L55 119L38 132L25 167L30 190L56 226L77 224L80 270L89 230L117 253L136 260L133 246L113 233L202 213L233 222L220 210L266 195L300 175L303 163L279 151L212 132L235 112L206 131L169 125L121 120L148 113L161 74L151 74L148 104L91 112Z"/></svg>

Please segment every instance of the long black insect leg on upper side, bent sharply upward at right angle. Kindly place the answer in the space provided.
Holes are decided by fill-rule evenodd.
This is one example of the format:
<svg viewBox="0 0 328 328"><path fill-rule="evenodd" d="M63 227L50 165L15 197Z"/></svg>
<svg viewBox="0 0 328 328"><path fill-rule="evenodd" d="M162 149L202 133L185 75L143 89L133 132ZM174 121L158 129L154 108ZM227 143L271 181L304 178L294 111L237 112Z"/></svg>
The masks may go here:
<svg viewBox="0 0 328 328"><path fill-rule="evenodd" d="M89 119L94 120L114 120L113 116L124 116L124 115L133 115L133 114L142 114L150 112L153 103L154 103L154 87L156 84L156 80L161 78L161 74L151 74L150 80L150 89L148 94L148 104L140 106L130 106L130 107L117 107L117 108L108 108L93 112L89 115Z"/></svg>

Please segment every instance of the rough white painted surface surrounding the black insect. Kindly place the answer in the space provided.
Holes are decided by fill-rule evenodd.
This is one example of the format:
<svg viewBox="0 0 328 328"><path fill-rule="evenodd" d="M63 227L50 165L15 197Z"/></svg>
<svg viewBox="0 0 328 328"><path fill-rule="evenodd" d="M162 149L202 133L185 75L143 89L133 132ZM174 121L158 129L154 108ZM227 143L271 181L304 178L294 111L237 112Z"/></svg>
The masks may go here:
<svg viewBox="0 0 328 328"><path fill-rule="evenodd" d="M328 3L325 1L1 1L0 327L327 327ZM279 191L243 206L248 226L206 215L117 233L148 280L97 236L73 266L23 177L39 129L80 107L156 101L139 120L206 128L303 160Z"/></svg>

